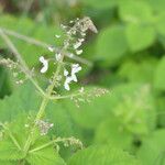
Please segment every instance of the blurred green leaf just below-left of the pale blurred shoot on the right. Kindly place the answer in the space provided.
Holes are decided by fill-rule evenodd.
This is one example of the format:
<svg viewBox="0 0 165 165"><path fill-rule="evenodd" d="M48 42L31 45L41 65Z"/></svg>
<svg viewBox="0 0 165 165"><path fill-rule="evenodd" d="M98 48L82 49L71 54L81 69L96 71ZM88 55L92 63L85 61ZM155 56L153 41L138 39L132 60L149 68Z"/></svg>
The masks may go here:
<svg viewBox="0 0 165 165"><path fill-rule="evenodd" d="M122 148L130 148L133 135L122 128L122 119L116 117L102 121L96 130L96 143L108 143Z"/></svg>

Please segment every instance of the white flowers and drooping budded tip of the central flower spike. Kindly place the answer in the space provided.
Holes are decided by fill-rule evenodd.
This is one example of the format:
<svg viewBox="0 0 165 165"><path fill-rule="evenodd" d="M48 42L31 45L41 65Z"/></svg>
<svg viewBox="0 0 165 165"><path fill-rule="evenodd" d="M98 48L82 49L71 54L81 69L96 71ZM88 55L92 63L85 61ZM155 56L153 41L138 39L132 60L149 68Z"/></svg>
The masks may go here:
<svg viewBox="0 0 165 165"><path fill-rule="evenodd" d="M65 40L62 45L62 50L56 52L55 47L51 46L48 47L50 52L55 53L54 61L56 61L55 64L62 62L63 53L69 52L69 55L81 55L82 50L80 48L82 43L85 42L86 33L88 30L91 30L92 32L97 33L97 29L94 25L92 21L89 18L84 19L76 19L75 21L70 21L69 25L62 24L61 28L65 32ZM55 35L57 38L61 38L61 35ZM64 52L65 51L65 52ZM45 59L43 56L40 57L40 62L42 63L43 67L41 69L41 73L44 74L48 70L48 59ZM63 62L64 65L64 88L66 90L70 90L69 85L75 81L77 82L77 75L81 70L81 66L79 64L70 64L70 73L68 72L67 64Z"/></svg>

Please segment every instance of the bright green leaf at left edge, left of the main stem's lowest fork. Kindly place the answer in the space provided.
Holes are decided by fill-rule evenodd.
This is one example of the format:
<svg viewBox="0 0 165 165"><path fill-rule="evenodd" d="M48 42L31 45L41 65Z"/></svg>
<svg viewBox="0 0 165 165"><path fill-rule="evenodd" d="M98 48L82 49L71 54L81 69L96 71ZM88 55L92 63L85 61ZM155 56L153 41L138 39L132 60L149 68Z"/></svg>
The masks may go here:
<svg viewBox="0 0 165 165"><path fill-rule="evenodd" d="M24 153L20 151L11 141L0 141L0 160L16 161L24 157Z"/></svg>

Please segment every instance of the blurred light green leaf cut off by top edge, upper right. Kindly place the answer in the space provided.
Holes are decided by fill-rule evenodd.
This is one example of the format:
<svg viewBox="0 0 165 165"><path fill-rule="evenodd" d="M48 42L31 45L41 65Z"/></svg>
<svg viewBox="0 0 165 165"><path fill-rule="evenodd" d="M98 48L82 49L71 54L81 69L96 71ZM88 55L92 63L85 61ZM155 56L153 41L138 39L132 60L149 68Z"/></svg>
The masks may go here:
<svg viewBox="0 0 165 165"><path fill-rule="evenodd" d="M119 15L122 21L131 23L144 23L153 21L153 11L146 1L121 1L119 6Z"/></svg>

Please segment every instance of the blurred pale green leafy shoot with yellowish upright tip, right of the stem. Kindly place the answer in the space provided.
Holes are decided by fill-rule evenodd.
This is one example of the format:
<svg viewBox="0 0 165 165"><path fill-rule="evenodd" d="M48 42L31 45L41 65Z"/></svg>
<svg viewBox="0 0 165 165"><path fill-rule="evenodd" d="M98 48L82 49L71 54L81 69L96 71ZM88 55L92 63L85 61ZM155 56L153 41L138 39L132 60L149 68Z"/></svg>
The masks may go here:
<svg viewBox="0 0 165 165"><path fill-rule="evenodd" d="M156 121L151 87L142 85L133 90L130 96L123 96L113 108L113 112L116 117L122 119L124 129L135 135L145 135L155 129Z"/></svg>

